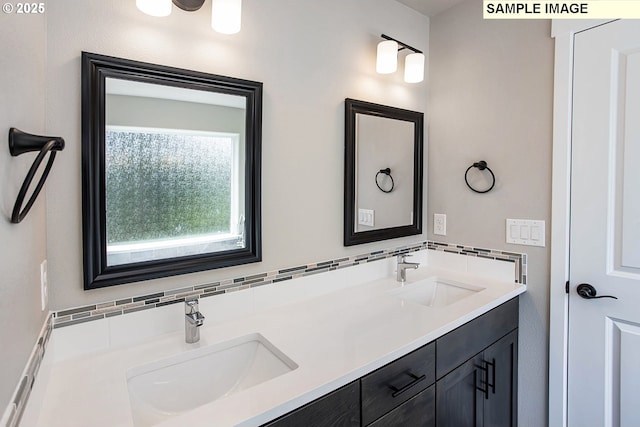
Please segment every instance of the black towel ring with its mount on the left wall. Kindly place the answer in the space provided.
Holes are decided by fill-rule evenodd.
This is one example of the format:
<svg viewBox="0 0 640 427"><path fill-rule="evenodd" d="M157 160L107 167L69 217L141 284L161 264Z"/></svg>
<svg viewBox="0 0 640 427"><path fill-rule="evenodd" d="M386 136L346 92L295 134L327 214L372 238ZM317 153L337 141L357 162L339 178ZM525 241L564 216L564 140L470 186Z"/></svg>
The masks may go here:
<svg viewBox="0 0 640 427"><path fill-rule="evenodd" d="M38 151L38 156L31 165L31 168L22 183L22 187L20 187L16 203L13 205L11 222L18 224L25 216L27 216L29 209L33 206L38 194L40 194L40 190L42 190L42 187L44 186L44 182L47 180L51 166L53 166L53 161L56 158L56 151L62 150L64 150L64 139L60 137L32 135L30 133L22 132L16 128L9 129L9 152L12 156L15 157L30 151ZM49 161L42 172L40 181L38 181L36 188L33 190L31 197L29 197L27 204L23 208L22 204L24 203L24 198L29 186L31 185L31 181L33 181L33 177L38 171L40 164L49 152L51 152L49 155Z"/></svg>

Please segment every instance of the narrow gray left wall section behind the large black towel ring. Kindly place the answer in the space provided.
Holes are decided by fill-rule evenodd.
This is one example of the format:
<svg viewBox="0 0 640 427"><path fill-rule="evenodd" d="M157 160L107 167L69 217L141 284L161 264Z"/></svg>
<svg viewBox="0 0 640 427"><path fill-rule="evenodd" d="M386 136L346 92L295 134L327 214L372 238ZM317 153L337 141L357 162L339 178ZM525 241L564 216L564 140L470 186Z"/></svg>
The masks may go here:
<svg viewBox="0 0 640 427"><path fill-rule="evenodd" d="M1 415L45 319L45 312L40 309L40 263L46 258L46 197L43 191L20 224L9 222L36 154L11 157L7 143L10 127L29 133L44 132L44 16L0 14L0 40ZM54 164L54 168L57 166Z"/></svg>

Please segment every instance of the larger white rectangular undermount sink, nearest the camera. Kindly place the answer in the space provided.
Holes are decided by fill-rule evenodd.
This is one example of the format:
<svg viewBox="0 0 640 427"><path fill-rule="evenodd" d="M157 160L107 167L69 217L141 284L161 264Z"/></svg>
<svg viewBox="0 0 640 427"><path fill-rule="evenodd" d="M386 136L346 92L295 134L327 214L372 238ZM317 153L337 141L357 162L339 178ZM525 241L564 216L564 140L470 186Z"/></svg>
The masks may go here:
<svg viewBox="0 0 640 427"><path fill-rule="evenodd" d="M286 374L298 365L255 333L131 368L136 427L148 427Z"/></svg>

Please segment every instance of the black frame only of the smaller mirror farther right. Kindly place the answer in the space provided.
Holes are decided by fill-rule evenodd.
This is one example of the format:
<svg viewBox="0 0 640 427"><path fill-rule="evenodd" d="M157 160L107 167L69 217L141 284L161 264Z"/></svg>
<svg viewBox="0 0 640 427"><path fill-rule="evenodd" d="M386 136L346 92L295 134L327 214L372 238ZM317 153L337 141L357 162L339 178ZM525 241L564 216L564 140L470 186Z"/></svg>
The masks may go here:
<svg viewBox="0 0 640 427"><path fill-rule="evenodd" d="M345 99L344 245L377 242L422 234L424 114L371 102ZM414 125L413 224L356 232L356 114L411 122Z"/></svg>

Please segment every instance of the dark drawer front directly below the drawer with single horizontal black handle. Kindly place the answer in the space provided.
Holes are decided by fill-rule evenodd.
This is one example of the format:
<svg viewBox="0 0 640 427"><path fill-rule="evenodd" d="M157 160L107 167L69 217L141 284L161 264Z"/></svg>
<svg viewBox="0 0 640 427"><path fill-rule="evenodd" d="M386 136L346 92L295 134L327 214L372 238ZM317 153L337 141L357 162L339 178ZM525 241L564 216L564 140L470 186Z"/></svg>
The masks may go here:
<svg viewBox="0 0 640 427"><path fill-rule="evenodd" d="M369 427L435 427L436 386L432 385Z"/></svg>

